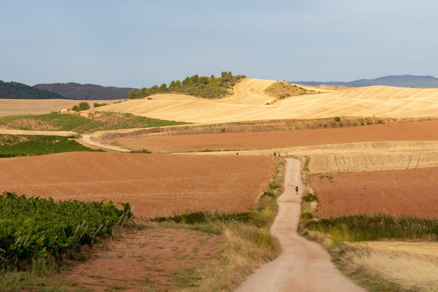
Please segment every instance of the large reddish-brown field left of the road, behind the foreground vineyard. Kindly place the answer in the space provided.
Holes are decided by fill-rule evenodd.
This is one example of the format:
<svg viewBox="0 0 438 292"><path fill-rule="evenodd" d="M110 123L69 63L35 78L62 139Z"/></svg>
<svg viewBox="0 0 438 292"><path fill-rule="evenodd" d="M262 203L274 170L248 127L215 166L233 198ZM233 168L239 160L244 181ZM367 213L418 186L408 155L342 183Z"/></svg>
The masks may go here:
<svg viewBox="0 0 438 292"><path fill-rule="evenodd" d="M134 214L247 211L266 190L272 157L70 152L0 160L0 190L55 200L129 201Z"/></svg>

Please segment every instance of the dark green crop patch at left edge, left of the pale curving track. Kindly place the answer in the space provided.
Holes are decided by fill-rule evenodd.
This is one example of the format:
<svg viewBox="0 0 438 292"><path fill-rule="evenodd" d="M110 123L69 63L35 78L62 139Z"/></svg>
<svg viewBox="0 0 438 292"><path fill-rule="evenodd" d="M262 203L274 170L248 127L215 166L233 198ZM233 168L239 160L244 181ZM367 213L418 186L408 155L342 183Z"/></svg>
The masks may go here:
<svg viewBox="0 0 438 292"><path fill-rule="evenodd" d="M85 147L63 136L0 134L0 158L73 151L105 152Z"/></svg>

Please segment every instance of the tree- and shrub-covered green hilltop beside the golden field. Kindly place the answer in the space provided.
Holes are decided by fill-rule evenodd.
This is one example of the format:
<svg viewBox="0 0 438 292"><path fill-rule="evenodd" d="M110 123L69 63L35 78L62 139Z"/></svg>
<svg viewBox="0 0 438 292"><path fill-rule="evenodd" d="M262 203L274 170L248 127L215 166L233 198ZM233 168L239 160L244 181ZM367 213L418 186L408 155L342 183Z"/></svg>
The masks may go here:
<svg viewBox="0 0 438 292"><path fill-rule="evenodd" d="M143 98L157 93L180 93L193 96L218 98L223 97L244 75L233 76L233 73L222 72L220 77L215 75L199 76L197 74L187 76L183 81L174 80L170 84L154 85L150 88L143 87L139 91L129 91L128 98Z"/></svg>

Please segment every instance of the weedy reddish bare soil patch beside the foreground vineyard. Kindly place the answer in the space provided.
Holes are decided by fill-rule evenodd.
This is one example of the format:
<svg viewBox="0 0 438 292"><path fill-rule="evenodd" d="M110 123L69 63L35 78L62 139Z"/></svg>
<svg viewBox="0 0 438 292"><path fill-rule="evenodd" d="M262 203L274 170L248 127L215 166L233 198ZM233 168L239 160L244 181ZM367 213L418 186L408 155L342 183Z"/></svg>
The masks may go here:
<svg viewBox="0 0 438 292"><path fill-rule="evenodd" d="M147 228L125 235L64 274L93 291L174 291L196 284L197 268L219 255L217 236Z"/></svg>

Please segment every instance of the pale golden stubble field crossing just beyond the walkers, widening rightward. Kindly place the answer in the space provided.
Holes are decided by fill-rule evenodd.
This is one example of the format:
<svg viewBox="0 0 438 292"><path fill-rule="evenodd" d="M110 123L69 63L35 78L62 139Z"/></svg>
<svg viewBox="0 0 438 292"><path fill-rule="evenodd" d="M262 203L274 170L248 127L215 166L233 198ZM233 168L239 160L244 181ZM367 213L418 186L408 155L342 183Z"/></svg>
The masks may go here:
<svg viewBox="0 0 438 292"><path fill-rule="evenodd" d="M239 156L272 156L274 151L277 153L280 152L283 157L310 157L310 173L371 171L438 166L438 141L360 142L272 148L239 151ZM236 155L236 151L192 152L191 154Z"/></svg>

